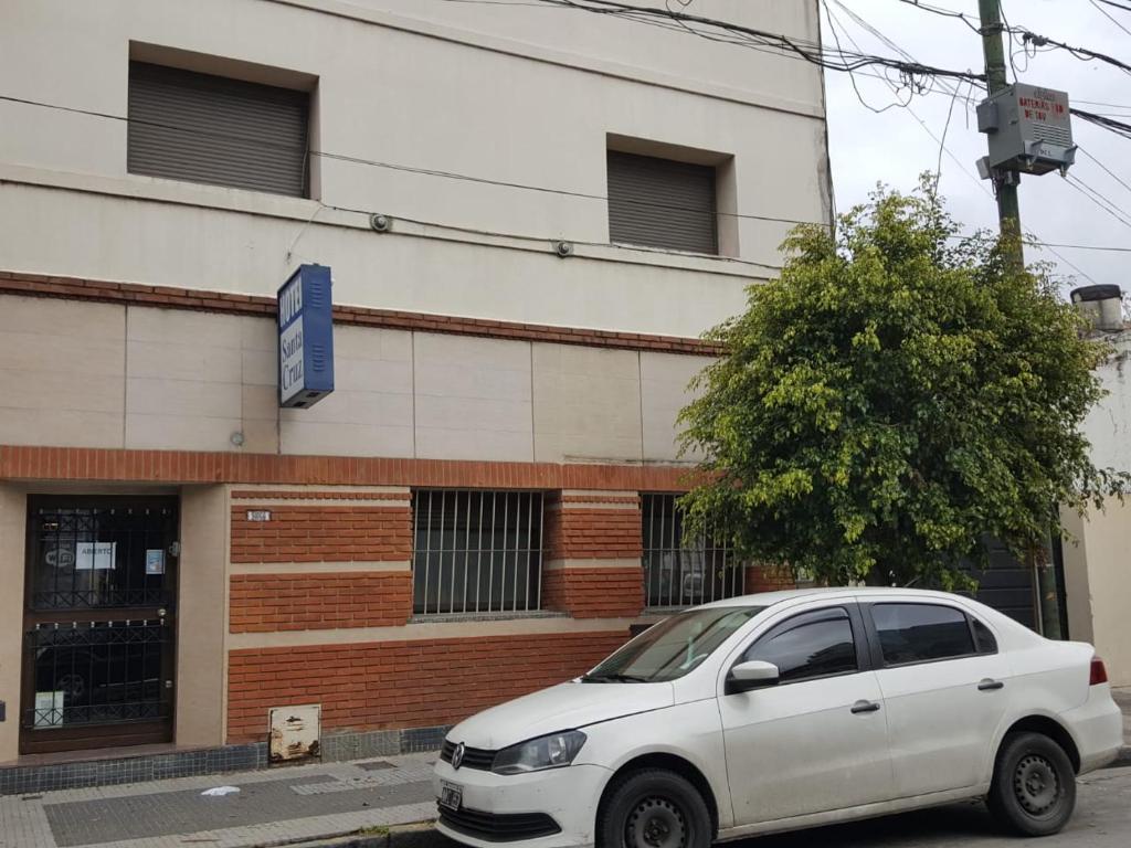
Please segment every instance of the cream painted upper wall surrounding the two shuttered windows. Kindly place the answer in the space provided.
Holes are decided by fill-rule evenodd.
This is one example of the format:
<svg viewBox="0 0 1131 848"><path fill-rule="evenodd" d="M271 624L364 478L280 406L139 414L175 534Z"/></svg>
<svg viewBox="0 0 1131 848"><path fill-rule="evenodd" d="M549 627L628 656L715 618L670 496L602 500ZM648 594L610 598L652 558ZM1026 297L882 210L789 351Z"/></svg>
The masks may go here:
<svg viewBox="0 0 1131 848"><path fill-rule="evenodd" d="M815 8L696 10L815 40ZM340 303L693 336L780 263L789 225L761 218L828 218L821 80L797 59L550 7L6 0L5 94L124 115L131 42L317 78L322 152L599 198L606 135L629 136L733 155L736 211L760 217L707 259L602 246L599 199L326 158L319 200L198 187L128 174L123 121L0 102L3 269L273 294L317 260Z"/></svg>

